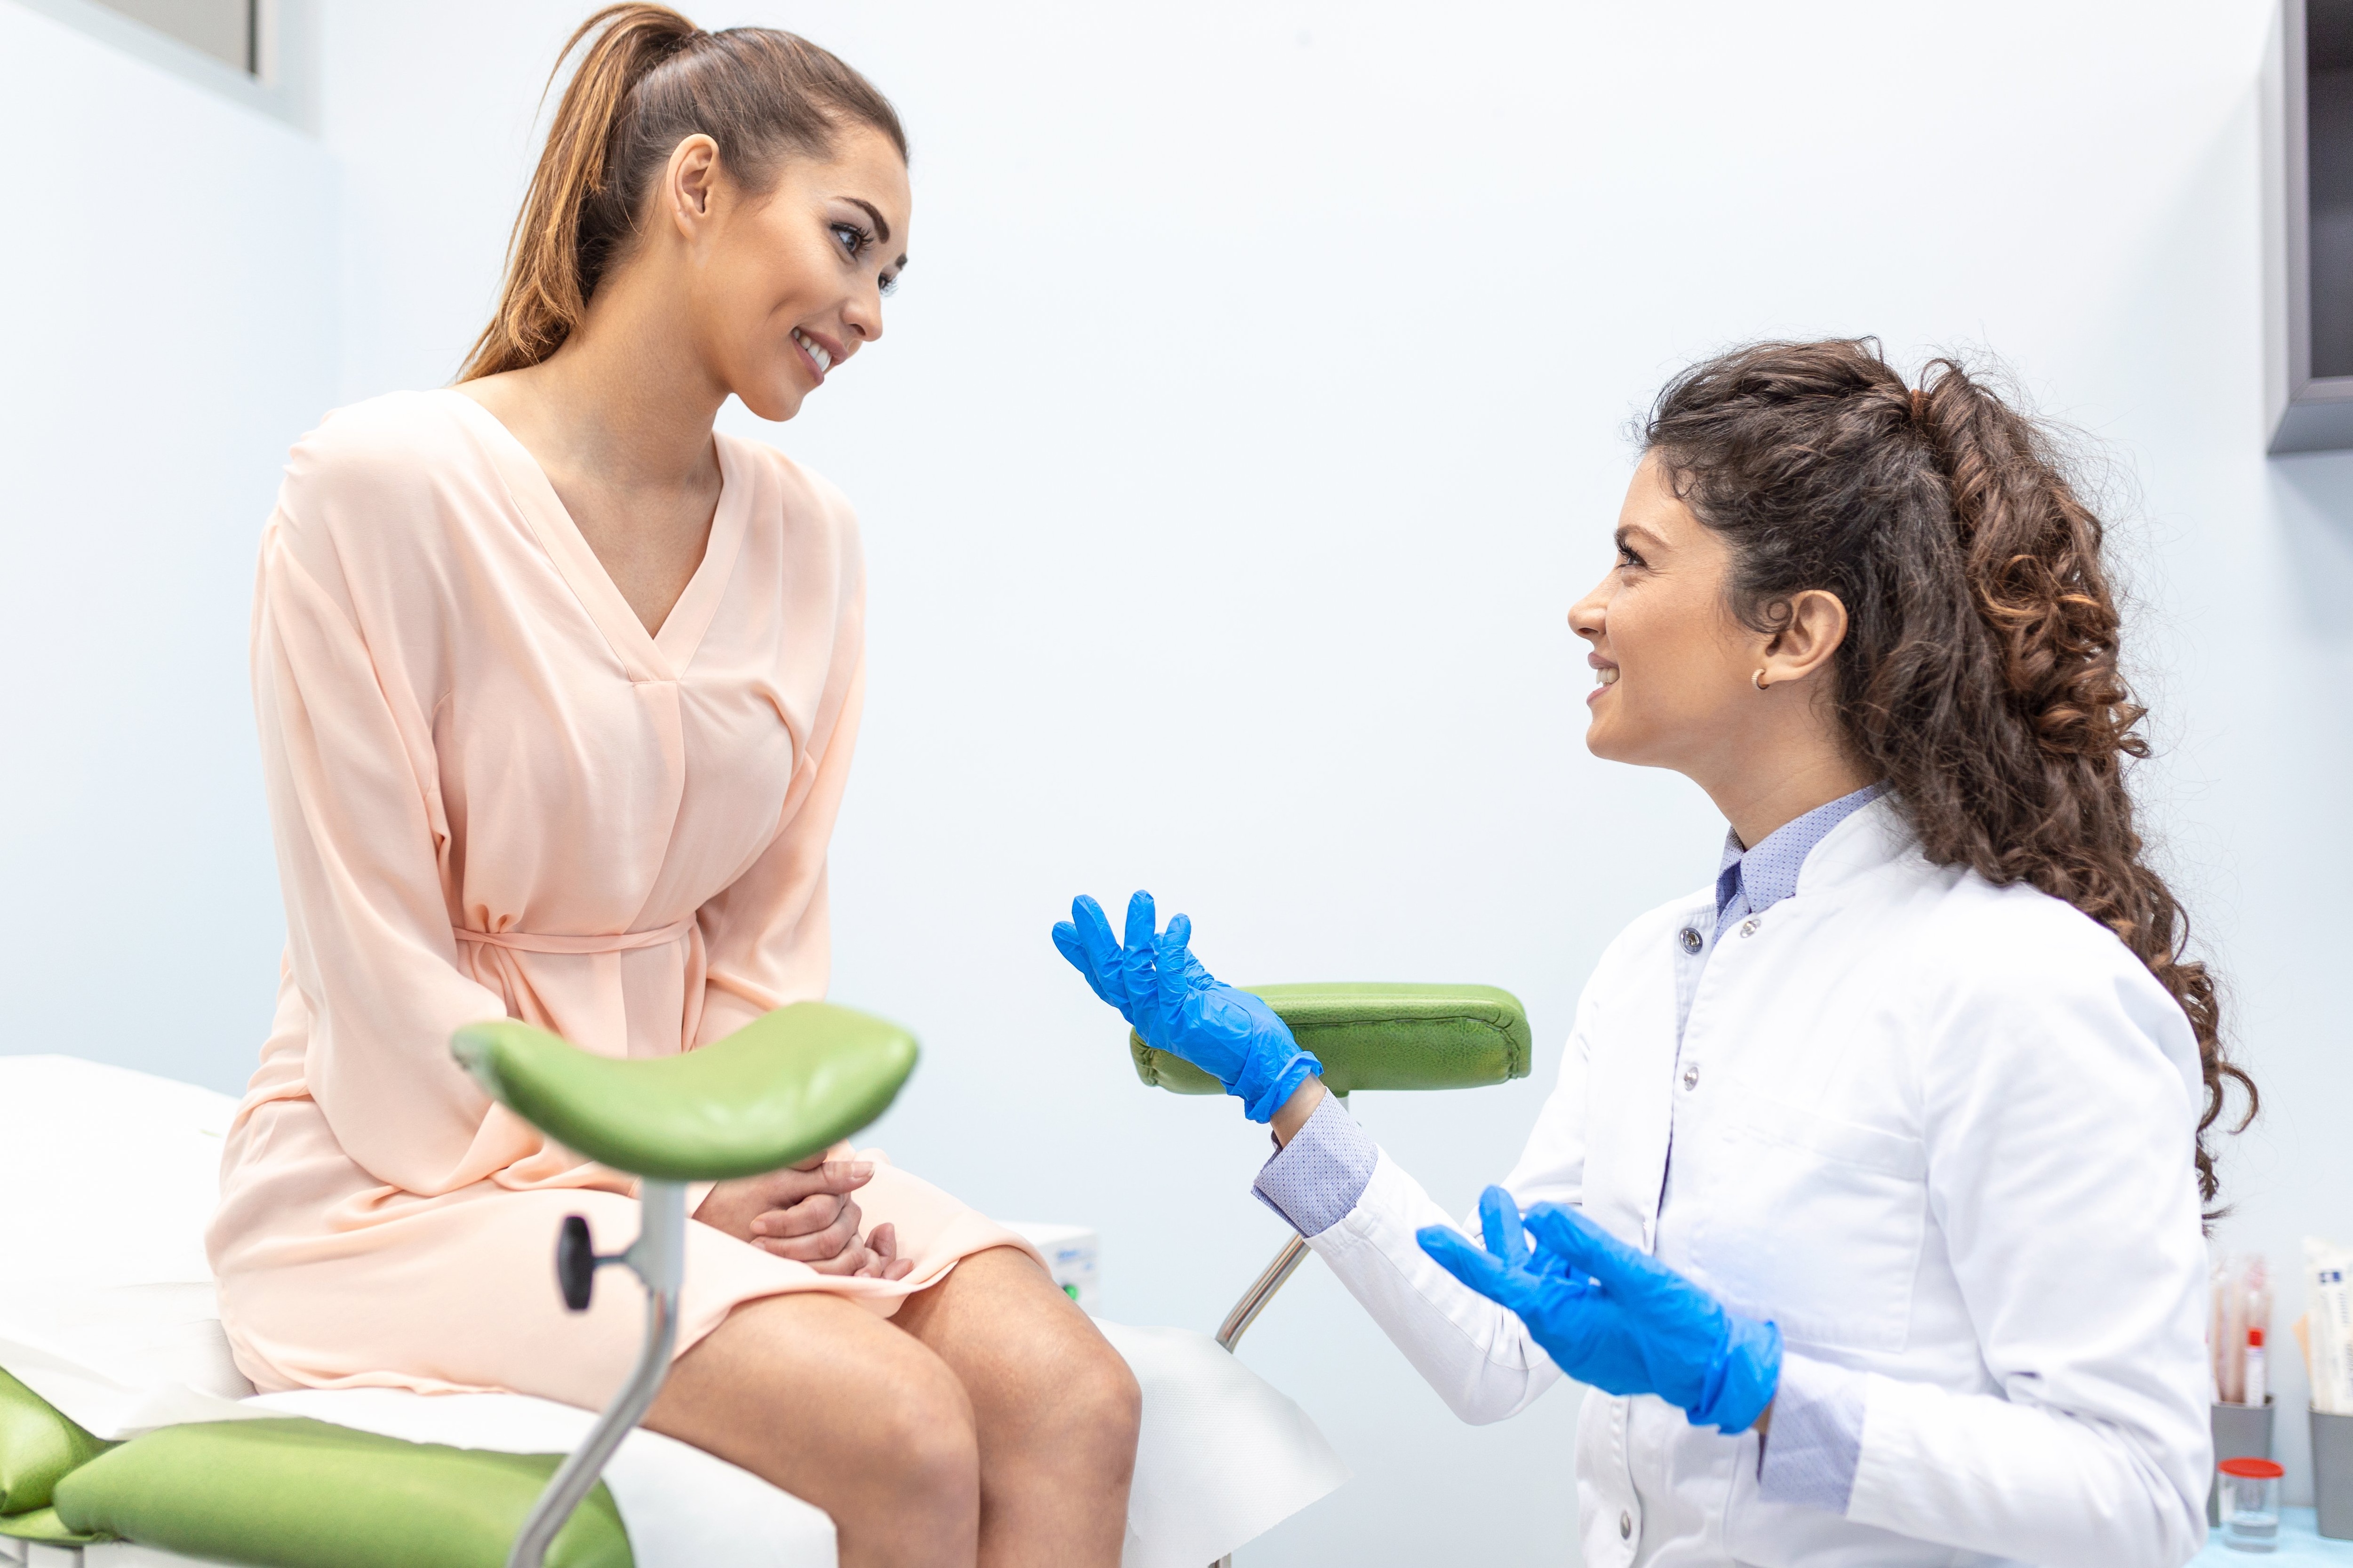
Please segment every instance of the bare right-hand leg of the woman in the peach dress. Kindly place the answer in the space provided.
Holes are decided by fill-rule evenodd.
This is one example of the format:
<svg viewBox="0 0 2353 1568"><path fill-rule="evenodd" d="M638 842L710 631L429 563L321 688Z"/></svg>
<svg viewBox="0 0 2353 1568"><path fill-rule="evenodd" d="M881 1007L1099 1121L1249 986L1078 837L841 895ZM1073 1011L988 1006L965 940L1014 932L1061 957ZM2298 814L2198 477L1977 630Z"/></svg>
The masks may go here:
<svg viewBox="0 0 2353 1568"><path fill-rule="evenodd" d="M972 1396L981 1568L1115 1568L1144 1399L1087 1314L1026 1253L991 1248L892 1324Z"/></svg>

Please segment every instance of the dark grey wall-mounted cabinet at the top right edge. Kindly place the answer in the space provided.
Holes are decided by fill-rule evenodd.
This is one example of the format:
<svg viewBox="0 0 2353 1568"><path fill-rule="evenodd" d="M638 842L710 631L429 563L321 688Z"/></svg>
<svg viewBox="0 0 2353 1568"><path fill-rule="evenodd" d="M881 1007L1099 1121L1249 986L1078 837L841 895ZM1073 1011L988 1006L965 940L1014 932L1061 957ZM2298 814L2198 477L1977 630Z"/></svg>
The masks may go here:
<svg viewBox="0 0 2353 1568"><path fill-rule="evenodd" d="M2271 451L2334 451L2353 447L2353 0L2285 0L2280 45Z"/></svg>

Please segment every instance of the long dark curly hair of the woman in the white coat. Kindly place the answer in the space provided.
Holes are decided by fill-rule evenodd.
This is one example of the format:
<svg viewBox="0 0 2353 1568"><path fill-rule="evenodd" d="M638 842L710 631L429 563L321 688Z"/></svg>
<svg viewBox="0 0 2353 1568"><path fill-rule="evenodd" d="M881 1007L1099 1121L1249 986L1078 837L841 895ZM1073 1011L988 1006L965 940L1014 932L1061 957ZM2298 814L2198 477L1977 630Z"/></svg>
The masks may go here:
<svg viewBox="0 0 2353 1568"><path fill-rule="evenodd" d="M2118 668L2101 522L2049 430L1934 360L1911 388L1873 339L1753 343L1675 376L1642 423L1675 494L1732 545L1732 611L1847 607L1838 717L1937 865L2026 882L2108 926L2198 1034L2207 1131L2231 1084L2221 1001L2186 957L2188 912L2141 858L2125 762L2146 710ZM2219 1213L2219 1211L2217 1211ZM2207 1218L2217 1218L2209 1213Z"/></svg>

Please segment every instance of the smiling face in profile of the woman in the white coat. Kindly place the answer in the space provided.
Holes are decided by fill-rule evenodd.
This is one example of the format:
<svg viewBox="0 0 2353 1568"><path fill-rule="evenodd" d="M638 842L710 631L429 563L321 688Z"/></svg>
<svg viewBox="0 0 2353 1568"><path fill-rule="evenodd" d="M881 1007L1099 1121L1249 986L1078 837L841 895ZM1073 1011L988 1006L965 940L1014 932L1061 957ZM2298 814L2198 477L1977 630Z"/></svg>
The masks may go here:
<svg viewBox="0 0 2353 1568"><path fill-rule="evenodd" d="M1609 576L1569 609L1569 628L1593 644L1586 750L1718 776L1758 712L1755 635L1725 599L1732 552L1675 498L1657 454L1626 487L1614 545Z"/></svg>

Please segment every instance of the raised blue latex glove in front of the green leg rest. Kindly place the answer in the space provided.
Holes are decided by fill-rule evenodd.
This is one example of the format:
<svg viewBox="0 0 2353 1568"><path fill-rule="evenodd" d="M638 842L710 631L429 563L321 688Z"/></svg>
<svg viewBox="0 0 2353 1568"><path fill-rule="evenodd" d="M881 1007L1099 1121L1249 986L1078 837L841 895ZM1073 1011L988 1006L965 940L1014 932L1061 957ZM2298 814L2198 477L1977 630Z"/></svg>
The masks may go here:
<svg viewBox="0 0 2353 1568"><path fill-rule="evenodd" d="M1136 893L1127 900L1127 940L1113 943L1104 907L1080 896L1071 919L1054 926L1054 947L1144 1044L1193 1063L1242 1100L1245 1117L1268 1121L1322 1063L1299 1048L1271 1006L1202 969L1191 919L1179 914L1165 933L1155 926L1153 896Z"/></svg>

